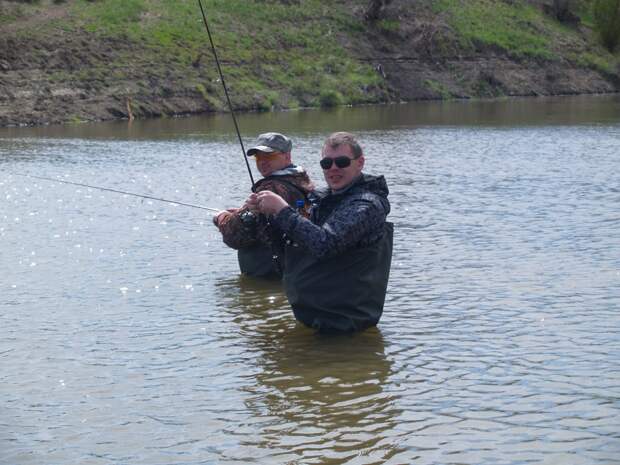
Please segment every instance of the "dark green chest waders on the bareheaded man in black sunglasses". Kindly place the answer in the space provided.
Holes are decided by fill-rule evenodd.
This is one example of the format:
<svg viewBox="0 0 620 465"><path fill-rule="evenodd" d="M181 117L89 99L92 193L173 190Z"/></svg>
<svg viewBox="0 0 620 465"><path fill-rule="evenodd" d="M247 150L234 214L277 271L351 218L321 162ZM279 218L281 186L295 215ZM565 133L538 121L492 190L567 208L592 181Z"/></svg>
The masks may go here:
<svg viewBox="0 0 620 465"><path fill-rule="evenodd" d="M287 245L284 286L295 318L325 333L375 326L385 303L393 233L393 224L386 222L374 244L320 261Z"/></svg>

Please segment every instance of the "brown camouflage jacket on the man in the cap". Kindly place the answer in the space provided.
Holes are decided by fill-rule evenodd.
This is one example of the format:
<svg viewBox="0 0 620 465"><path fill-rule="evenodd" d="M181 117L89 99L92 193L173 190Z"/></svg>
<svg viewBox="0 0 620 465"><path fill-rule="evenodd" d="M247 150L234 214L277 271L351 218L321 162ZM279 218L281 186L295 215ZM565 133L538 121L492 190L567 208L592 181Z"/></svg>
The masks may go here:
<svg viewBox="0 0 620 465"><path fill-rule="evenodd" d="M254 192L269 190L280 195L289 205L306 200L314 185L306 171L291 165L257 181ZM250 213L245 208L234 209L231 215L217 224L224 243L233 249L250 247L257 243L279 248L282 233L273 227L265 215Z"/></svg>

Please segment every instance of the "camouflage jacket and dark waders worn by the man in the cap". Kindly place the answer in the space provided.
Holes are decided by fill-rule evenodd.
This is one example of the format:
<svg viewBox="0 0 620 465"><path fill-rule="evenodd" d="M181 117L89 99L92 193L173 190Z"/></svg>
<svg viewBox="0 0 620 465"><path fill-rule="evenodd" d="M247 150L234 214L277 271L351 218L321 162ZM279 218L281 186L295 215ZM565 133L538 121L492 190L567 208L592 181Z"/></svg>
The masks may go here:
<svg viewBox="0 0 620 465"><path fill-rule="evenodd" d="M314 185L301 167L291 165L254 184L253 191L269 190L289 205L306 200ZM224 243L238 251L239 268L250 276L281 277L282 233L264 215L254 215L240 208L218 223Z"/></svg>

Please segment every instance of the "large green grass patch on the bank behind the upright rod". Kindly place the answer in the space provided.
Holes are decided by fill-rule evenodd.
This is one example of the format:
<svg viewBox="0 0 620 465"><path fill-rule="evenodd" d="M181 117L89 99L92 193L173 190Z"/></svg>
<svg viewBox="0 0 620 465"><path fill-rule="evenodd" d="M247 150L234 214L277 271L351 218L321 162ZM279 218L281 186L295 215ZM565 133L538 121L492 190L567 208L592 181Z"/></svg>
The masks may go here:
<svg viewBox="0 0 620 465"><path fill-rule="evenodd" d="M289 106L306 106L367 101L368 89L382 85L370 66L357 63L336 40L334 31L363 30L336 0L203 5L227 82L237 94L255 96L258 109L279 105L274 88L293 89ZM72 9L86 30L143 43L160 63L188 64L201 53L204 62L213 62L195 0L76 0Z"/></svg>

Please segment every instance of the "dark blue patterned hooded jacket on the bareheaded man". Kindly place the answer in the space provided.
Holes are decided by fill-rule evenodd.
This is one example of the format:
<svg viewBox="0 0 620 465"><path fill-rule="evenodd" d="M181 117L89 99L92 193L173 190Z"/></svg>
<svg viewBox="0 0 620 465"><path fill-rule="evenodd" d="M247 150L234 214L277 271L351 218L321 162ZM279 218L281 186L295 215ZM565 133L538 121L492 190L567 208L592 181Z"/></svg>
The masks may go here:
<svg viewBox="0 0 620 465"><path fill-rule="evenodd" d="M322 259L378 241L390 212L383 176L362 174L349 187L314 193L310 219L284 208L273 223L289 240Z"/></svg>

